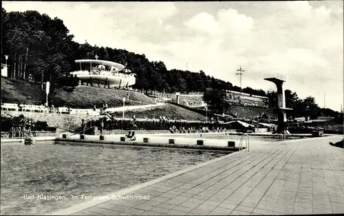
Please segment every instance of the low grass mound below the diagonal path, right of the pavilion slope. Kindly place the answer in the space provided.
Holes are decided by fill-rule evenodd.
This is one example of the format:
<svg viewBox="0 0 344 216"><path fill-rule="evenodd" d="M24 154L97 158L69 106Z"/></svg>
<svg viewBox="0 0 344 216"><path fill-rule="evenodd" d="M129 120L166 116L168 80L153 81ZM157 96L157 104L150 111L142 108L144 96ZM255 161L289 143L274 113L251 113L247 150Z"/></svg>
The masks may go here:
<svg viewBox="0 0 344 216"><path fill-rule="evenodd" d="M116 112L115 115L118 117L121 117L122 112ZM155 117L155 119L158 119L160 116L164 116L164 117L169 117L169 119L183 119L183 120L194 120L194 121L206 120L206 117L204 115L200 115L197 112L186 110L184 108L175 106L173 104L165 104L164 106L125 112L125 117L133 117L133 115L136 115L136 118Z"/></svg>

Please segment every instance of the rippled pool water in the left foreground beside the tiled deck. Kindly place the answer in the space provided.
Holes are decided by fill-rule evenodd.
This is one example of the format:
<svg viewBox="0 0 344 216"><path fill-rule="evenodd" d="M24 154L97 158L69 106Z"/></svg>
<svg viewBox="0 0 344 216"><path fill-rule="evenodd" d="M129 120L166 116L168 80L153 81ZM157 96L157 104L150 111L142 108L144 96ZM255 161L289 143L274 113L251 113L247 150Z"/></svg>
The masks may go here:
<svg viewBox="0 0 344 216"><path fill-rule="evenodd" d="M154 147L2 145L1 215L45 214L82 200L147 182L228 152ZM63 195L67 200L29 200L24 195Z"/></svg>

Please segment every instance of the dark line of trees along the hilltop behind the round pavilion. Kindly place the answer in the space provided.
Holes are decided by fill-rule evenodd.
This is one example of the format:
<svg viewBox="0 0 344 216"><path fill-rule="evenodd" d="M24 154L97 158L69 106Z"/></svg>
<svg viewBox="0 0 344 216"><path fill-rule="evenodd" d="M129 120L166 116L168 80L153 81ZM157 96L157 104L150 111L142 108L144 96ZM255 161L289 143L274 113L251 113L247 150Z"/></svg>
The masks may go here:
<svg viewBox="0 0 344 216"><path fill-rule="evenodd" d="M29 75L34 82L49 81L50 92L58 85L76 85L76 80L69 76L70 71L78 70L74 63L77 59L109 60L125 64L127 69L136 73L136 84L133 88L145 91L156 90L165 93L175 92L211 92L242 91L252 95L268 97L270 107L275 106L275 91L241 89L230 82L206 75L204 71L192 72L178 69L167 70L164 62L149 61L144 54L137 54L125 49L98 47L76 43L72 34L61 19L50 18L34 10L25 12L6 12L1 8L1 33L3 55L9 56L8 76L13 79L27 80ZM2 55L2 58L4 56ZM3 62L5 62L3 60ZM215 92L213 92L215 93ZM217 97L221 94L217 94ZM216 102L221 103L221 102ZM319 115L319 106L313 97L299 99L297 93L286 91L287 107L297 108L297 115L311 113ZM311 110L311 111L310 111Z"/></svg>

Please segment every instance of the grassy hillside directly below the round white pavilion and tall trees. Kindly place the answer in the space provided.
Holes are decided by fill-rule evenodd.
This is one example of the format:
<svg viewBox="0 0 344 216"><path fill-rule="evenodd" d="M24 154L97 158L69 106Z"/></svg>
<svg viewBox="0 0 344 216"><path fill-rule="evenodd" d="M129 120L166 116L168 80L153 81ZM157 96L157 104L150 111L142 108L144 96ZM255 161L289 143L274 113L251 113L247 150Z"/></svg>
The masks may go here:
<svg viewBox="0 0 344 216"><path fill-rule="evenodd" d="M143 93L129 91L129 94L126 106L156 104ZM127 91L92 86L77 86L74 90L56 88L53 104L55 107L93 108L96 105L100 108L107 103L109 107L118 107L123 106L123 97L127 97ZM45 103L45 91L41 91L40 84L2 77L1 99L4 103L41 105Z"/></svg>

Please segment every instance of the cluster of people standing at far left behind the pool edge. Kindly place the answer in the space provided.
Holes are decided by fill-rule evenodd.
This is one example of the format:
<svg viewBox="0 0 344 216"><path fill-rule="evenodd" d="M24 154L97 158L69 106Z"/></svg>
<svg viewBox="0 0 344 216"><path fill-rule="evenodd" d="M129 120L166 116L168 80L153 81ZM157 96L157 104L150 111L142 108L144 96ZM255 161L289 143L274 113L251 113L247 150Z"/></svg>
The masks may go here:
<svg viewBox="0 0 344 216"><path fill-rule="evenodd" d="M19 123L13 125L9 131L10 138L18 137L23 138L25 136L36 136L36 129L32 120L20 119Z"/></svg>

